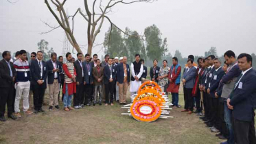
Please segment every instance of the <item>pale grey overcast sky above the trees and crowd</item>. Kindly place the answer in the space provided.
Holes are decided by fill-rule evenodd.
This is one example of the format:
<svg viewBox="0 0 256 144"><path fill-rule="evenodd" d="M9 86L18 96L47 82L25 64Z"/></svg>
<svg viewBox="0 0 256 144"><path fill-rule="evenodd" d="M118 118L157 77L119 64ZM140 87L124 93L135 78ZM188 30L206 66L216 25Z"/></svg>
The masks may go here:
<svg viewBox="0 0 256 144"><path fill-rule="evenodd" d="M65 10L70 15L78 8L85 11L83 0L67 0L65 3ZM204 56L211 47L216 47L219 56L230 49L237 54L256 53L255 0L158 0L119 4L109 17L121 29L129 27L141 35L146 27L156 25L161 30L161 38L167 38L168 52L172 56L176 49L184 57L189 54ZM0 0L0 51L37 51L37 43L45 39L60 55L65 41L64 30L58 28L40 34L50 30L42 21L58 26L44 0L19 0L14 4ZM74 35L84 53L86 25L82 16L75 17ZM108 27L110 24L105 21L95 43L104 42ZM104 55L102 47L94 47L93 53Z"/></svg>

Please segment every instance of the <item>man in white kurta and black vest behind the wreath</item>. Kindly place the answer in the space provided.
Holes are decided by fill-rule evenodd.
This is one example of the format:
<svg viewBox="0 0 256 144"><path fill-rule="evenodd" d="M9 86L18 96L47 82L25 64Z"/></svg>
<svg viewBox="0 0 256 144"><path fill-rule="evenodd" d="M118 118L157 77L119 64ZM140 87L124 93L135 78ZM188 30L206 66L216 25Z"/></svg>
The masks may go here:
<svg viewBox="0 0 256 144"><path fill-rule="evenodd" d="M132 77L130 80L130 95L134 95L139 90L141 86L141 75L143 74L143 64L139 62L140 55L135 55L135 62L130 64L130 71L132 72Z"/></svg>

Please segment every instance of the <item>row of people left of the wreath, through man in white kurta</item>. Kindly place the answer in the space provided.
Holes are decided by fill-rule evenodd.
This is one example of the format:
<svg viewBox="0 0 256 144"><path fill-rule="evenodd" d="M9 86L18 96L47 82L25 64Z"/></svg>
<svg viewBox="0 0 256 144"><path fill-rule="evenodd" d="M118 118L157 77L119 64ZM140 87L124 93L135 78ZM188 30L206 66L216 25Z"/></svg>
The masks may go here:
<svg viewBox="0 0 256 144"><path fill-rule="evenodd" d="M31 60L27 61L27 51L17 51L12 60L10 51L3 51L0 62L0 121L5 119L5 106L8 106L8 118L21 117L20 101L23 97L23 112L27 115L45 112L43 101L45 90L49 91L49 110L60 110L60 90L64 110L70 111L105 103L113 106L113 101L120 105L126 104L126 93L130 81L130 91L134 94L141 85L143 64L140 55L135 56L131 68L127 64L127 57L110 58L106 55L101 62L97 54L93 58L87 53L77 54L73 61L71 53L57 57L51 53L47 62L43 60L43 51L31 53ZM57 60L58 59L58 60ZM131 72L130 72L131 71ZM131 76L130 76L131 73ZM146 71L144 71L144 75ZM146 76L145 76L146 77ZM33 94L33 98L32 98ZM30 108L33 99L34 110ZM73 106L72 105L73 100Z"/></svg>

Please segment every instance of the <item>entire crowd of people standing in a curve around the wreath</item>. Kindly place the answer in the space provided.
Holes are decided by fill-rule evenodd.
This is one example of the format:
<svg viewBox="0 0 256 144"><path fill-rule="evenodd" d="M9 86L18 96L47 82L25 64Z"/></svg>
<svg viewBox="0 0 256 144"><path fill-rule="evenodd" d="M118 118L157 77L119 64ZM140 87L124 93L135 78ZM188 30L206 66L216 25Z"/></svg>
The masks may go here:
<svg viewBox="0 0 256 144"><path fill-rule="evenodd" d="M49 90L49 110L60 110L60 89L64 110L70 111L95 106L96 104L113 106L113 101L126 104L126 93L130 86L130 95L136 95L142 80L147 80L148 70L139 54L135 61L127 64L127 57L104 57L101 62L97 54L93 58L87 53L77 54L73 60L71 53L57 57L51 53L47 62L43 52L31 53L27 61L25 50L17 51L12 60L10 51L3 51L0 61L0 121L6 121L5 105L8 118L21 117L20 101L23 97L23 112L27 115L45 112L43 100L45 89ZM58 59L58 60L57 60ZM150 67L150 80L157 82L165 93L172 93L172 105L178 105L178 92L183 86L185 106L182 112L189 115L198 113L211 132L220 139L227 139L222 144L256 143L254 116L256 106L256 73L252 69L252 57L247 53L235 56L233 51L224 53L224 64L220 58L211 55L198 58L190 55L182 73L178 58L172 58L172 66L163 60L158 67L158 60L153 60ZM13 62L12 62L13 61ZM34 112L30 110L29 99L33 93ZM72 104L73 99L73 106Z"/></svg>

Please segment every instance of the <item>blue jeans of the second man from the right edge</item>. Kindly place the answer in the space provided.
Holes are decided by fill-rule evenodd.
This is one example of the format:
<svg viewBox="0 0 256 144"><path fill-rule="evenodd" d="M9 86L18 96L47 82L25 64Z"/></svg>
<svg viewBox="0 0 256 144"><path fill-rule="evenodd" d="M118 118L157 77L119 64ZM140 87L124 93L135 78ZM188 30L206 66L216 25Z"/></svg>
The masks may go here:
<svg viewBox="0 0 256 144"><path fill-rule="evenodd" d="M227 143L234 144L235 137L234 137L234 131L232 126L232 110L228 108L226 104L226 100L224 101L224 115L225 115L226 128L228 128L229 130L229 138Z"/></svg>

